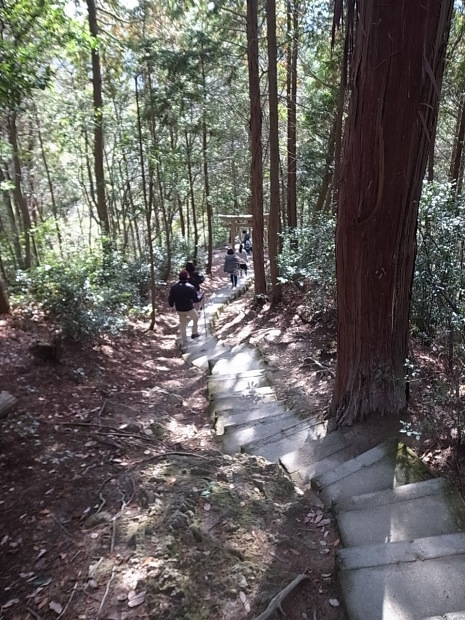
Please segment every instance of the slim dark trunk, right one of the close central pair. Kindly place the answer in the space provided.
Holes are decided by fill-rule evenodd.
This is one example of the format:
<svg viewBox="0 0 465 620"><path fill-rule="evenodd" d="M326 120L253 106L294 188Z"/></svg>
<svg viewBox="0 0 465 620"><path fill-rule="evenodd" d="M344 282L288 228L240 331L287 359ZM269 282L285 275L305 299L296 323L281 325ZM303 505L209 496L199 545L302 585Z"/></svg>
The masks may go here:
<svg viewBox="0 0 465 620"><path fill-rule="evenodd" d="M271 298L281 300L278 284L278 230L281 212L279 196L278 72L276 66L276 0L266 4L268 34L268 82L270 105L270 215L268 223L268 258L271 274Z"/></svg>

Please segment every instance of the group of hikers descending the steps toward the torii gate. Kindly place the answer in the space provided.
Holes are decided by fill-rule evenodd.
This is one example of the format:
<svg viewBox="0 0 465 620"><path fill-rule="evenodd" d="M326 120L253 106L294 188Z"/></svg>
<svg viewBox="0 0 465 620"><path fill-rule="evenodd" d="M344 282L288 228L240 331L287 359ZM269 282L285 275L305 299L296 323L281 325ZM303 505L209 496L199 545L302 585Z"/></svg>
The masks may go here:
<svg viewBox="0 0 465 620"><path fill-rule="evenodd" d="M245 257L243 257L243 250ZM247 275L247 256L252 251L250 236L247 231L243 231L238 256L233 248L229 248L225 259L224 269L231 278L233 288L237 286L239 273ZM197 270L195 261L188 260L184 269L179 272L179 280L170 289L168 304L170 308L175 308L179 316L179 332L181 336L181 348L187 346L187 325L192 321L191 339L199 337L199 315L203 309L203 291L200 285L205 281L205 277Z"/></svg>

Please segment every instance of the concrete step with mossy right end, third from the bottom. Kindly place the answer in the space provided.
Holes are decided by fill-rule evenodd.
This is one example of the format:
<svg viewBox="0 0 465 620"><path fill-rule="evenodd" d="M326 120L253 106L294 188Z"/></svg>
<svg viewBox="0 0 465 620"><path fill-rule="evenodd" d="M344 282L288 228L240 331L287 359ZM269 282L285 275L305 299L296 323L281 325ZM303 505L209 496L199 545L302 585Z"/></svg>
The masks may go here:
<svg viewBox="0 0 465 620"><path fill-rule="evenodd" d="M418 457L397 440L388 440L332 471L316 476L312 484L331 504L345 497L392 489L432 478Z"/></svg>

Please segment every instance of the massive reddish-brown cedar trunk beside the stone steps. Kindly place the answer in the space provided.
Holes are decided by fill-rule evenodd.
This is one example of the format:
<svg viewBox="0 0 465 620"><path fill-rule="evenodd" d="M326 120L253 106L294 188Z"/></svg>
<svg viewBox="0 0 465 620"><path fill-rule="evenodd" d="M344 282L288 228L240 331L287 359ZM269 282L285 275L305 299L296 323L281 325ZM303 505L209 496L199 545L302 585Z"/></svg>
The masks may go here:
<svg viewBox="0 0 465 620"><path fill-rule="evenodd" d="M336 232L338 424L397 416L406 406L418 200L452 4L357 5Z"/></svg>

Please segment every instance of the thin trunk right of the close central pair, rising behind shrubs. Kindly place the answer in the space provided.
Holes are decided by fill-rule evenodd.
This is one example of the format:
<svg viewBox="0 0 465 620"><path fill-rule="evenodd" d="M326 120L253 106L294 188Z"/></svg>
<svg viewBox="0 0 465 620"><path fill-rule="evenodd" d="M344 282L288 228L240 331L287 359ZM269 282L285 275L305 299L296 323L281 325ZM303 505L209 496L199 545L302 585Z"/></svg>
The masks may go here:
<svg viewBox="0 0 465 620"><path fill-rule="evenodd" d="M297 44L298 0L287 5L287 225L297 226Z"/></svg>

